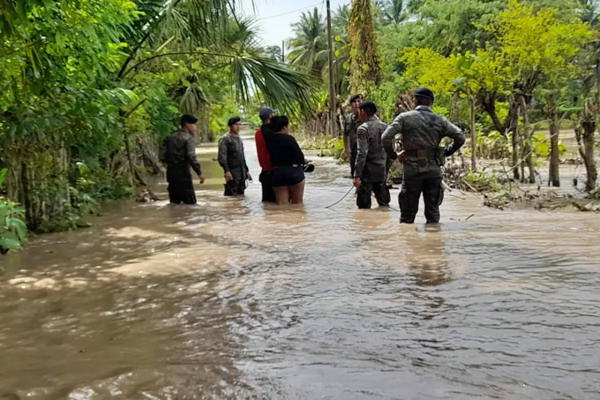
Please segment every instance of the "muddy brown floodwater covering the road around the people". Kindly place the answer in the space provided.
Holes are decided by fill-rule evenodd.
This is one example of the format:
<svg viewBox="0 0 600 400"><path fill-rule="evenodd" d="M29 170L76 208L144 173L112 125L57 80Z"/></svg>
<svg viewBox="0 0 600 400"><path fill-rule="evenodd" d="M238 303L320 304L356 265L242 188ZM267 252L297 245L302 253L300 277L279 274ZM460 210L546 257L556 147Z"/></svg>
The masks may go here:
<svg viewBox="0 0 600 400"><path fill-rule="evenodd" d="M0 399L600 398L597 215L446 194L425 231L326 209L349 168L316 157L304 207L263 206L245 146L244 199L200 148L198 206L127 200L3 258Z"/></svg>

